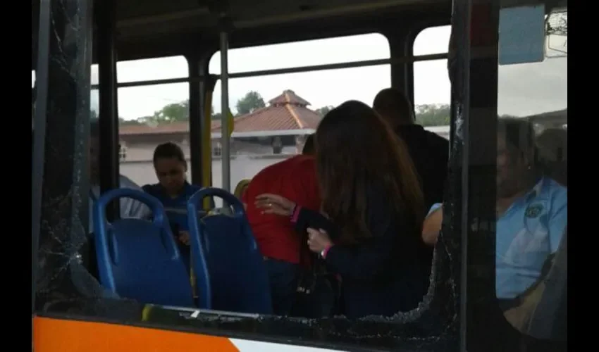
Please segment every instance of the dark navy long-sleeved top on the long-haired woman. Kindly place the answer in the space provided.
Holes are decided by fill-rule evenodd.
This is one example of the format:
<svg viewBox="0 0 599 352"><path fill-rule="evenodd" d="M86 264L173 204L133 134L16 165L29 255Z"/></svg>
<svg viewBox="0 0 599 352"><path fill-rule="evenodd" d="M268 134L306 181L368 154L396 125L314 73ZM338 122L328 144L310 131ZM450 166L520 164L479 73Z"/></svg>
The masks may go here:
<svg viewBox="0 0 599 352"><path fill-rule="evenodd" d="M326 254L326 268L340 275L345 315L391 316L418 306L428 289L428 273L418 257L419 226L408 215L394 214L385 193L367 193L367 218L372 238L354 246L335 245ZM339 229L314 210L302 208L296 230L326 230L335 241Z"/></svg>

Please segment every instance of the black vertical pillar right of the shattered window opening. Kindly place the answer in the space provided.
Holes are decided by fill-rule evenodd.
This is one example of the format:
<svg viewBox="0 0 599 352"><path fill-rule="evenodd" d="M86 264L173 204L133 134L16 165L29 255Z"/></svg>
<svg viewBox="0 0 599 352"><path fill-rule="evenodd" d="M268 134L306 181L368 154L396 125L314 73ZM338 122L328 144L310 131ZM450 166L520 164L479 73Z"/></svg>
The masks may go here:
<svg viewBox="0 0 599 352"><path fill-rule="evenodd" d="M470 2L470 4L468 4ZM458 215L460 347L462 351L567 351L567 341L540 340L515 329L495 296L495 187L498 122L500 1L455 1L450 51L455 50L450 135L452 172L462 175L462 196L445 215ZM458 25L456 25L458 23ZM454 45L455 47L451 47ZM459 126L459 130L455 130ZM492 145L490 145L492 144ZM459 146L462 146L461 150ZM460 158L461 157L461 158ZM455 165L457 163L457 165ZM462 167L462 165L467 167ZM446 229L445 223L443 230ZM450 236L452 234L449 233ZM484 324L481 324L484 322Z"/></svg>

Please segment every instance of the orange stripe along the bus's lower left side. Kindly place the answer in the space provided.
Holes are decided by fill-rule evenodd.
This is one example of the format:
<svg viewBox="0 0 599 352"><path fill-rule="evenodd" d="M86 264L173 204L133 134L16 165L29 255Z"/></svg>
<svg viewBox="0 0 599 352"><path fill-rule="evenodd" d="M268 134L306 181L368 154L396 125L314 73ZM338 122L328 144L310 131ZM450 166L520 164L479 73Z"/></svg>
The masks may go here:
<svg viewBox="0 0 599 352"><path fill-rule="evenodd" d="M239 352L226 337L168 330L33 318L35 352Z"/></svg>

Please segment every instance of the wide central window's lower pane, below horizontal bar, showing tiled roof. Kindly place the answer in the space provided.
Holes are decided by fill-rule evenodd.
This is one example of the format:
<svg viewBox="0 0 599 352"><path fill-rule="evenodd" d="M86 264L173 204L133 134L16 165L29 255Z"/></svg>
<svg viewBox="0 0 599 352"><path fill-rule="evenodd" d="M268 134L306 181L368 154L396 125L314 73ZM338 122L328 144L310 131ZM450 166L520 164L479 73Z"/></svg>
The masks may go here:
<svg viewBox="0 0 599 352"><path fill-rule="evenodd" d="M378 91L390 84L390 65L230 80L229 106L235 116L230 144L231 189L266 166L301 153L306 135L314 133L326 111L350 99L371 105ZM283 109L269 103L285 94L292 99ZM294 103L295 97L309 105ZM212 104L214 118L220 118L220 82ZM261 109L259 114L252 113L257 109ZM222 181L220 132L216 123L212 140L214 187L221 187Z"/></svg>

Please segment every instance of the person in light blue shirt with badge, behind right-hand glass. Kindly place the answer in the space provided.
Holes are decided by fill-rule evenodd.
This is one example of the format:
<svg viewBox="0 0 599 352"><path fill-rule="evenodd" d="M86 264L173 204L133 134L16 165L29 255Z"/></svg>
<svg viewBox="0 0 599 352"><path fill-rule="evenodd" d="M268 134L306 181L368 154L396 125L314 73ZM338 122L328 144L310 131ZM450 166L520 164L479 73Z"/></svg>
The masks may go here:
<svg viewBox="0 0 599 352"><path fill-rule="evenodd" d="M505 309L541 279L567 226L567 189L536 168L533 136L525 120L499 121L495 265L496 293ZM436 242L442 218L438 207L425 220L428 244Z"/></svg>

